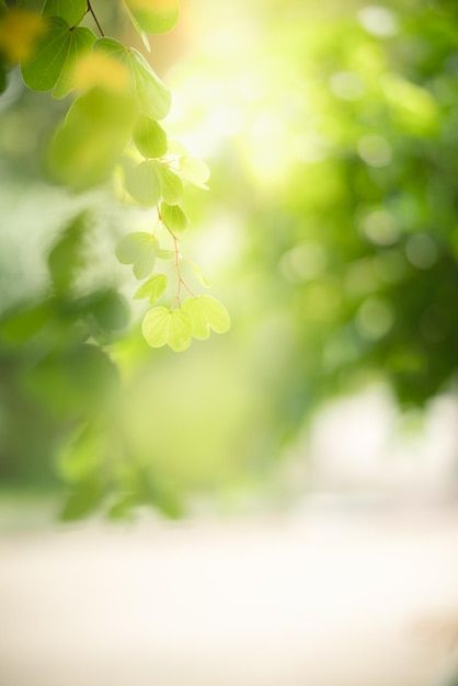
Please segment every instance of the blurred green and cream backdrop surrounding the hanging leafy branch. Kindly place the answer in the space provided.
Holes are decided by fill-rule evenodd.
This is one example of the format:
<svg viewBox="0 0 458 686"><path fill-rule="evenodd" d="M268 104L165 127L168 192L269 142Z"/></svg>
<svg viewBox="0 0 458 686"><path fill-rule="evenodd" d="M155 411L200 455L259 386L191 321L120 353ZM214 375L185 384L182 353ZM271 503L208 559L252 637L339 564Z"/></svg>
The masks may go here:
<svg viewBox="0 0 458 686"><path fill-rule="evenodd" d="M1 686L453 686L458 7L182 5L150 60L229 334L147 346L139 215L47 179L68 103L0 98Z"/></svg>

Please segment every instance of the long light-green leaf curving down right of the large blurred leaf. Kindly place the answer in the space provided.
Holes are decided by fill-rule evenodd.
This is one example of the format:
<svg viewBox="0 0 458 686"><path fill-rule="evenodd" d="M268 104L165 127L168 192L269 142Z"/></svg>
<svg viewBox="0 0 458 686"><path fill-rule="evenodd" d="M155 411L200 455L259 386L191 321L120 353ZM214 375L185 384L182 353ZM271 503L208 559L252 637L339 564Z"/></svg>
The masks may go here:
<svg viewBox="0 0 458 686"><path fill-rule="evenodd" d="M100 38L95 42L94 49L103 50L129 69L131 92L144 115L157 121L169 114L172 102L170 90L138 50L128 50L114 38Z"/></svg>

